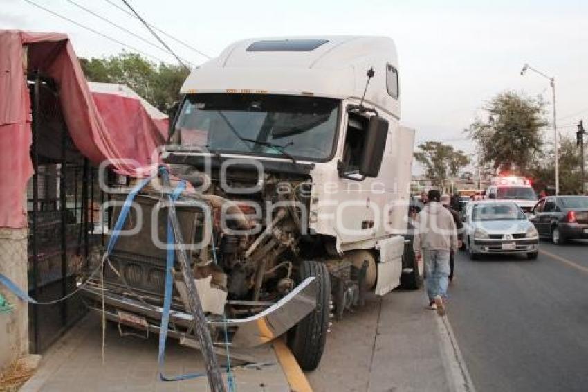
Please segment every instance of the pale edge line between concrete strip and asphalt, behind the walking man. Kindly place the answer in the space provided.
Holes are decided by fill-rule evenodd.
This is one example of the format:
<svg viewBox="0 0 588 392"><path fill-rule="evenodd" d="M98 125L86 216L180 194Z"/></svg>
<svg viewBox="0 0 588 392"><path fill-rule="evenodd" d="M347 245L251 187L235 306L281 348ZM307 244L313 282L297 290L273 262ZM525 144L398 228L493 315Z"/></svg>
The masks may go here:
<svg viewBox="0 0 588 392"><path fill-rule="evenodd" d="M475 392L472 377L466 362L461 356L461 350L459 350L457 339L455 339L453 328L451 328L447 315L440 317L434 314L434 318L437 319L441 353L443 362L445 362L443 366L447 372L450 390L453 392Z"/></svg>

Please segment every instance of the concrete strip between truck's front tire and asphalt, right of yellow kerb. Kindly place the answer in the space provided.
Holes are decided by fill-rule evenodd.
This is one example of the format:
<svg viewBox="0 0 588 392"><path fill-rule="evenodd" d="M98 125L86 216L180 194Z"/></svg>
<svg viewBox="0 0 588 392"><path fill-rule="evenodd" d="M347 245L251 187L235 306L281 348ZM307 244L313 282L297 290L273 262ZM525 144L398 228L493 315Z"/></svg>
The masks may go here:
<svg viewBox="0 0 588 392"><path fill-rule="evenodd" d="M472 392L448 320L426 303L421 290L395 290L344 314L307 374L314 391Z"/></svg>

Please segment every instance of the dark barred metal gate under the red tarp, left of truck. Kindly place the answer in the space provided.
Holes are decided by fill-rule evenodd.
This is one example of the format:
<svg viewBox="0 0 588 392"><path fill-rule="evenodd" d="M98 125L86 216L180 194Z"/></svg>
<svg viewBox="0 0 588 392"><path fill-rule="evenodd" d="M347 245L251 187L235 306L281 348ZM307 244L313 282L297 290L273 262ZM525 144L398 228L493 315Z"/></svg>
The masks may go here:
<svg viewBox="0 0 588 392"><path fill-rule="evenodd" d="M34 169L27 189L29 290L37 301L54 301L75 289L91 248L100 242L94 224L99 215L95 195L100 193L95 168L68 134L55 84L35 75L29 87ZM45 350L85 312L77 294L54 305L30 305L30 350Z"/></svg>

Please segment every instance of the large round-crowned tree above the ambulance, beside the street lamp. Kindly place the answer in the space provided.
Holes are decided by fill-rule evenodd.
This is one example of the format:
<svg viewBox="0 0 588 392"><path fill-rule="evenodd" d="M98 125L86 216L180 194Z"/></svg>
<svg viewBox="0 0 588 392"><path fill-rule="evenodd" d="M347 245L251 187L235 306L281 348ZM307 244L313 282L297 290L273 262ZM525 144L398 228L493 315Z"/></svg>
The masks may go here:
<svg viewBox="0 0 588 392"><path fill-rule="evenodd" d="M544 101L513 91L499 93L483 109L487 119L477 118L468 134L477 144L479 162L495 170L526 174L529 164L541 153Z"/></svg>

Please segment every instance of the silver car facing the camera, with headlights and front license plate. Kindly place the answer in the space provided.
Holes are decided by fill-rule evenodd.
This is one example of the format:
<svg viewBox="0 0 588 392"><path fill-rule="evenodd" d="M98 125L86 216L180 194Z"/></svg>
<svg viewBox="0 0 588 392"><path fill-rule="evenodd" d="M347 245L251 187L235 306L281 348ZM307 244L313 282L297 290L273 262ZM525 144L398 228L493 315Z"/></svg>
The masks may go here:
<svg viewBox="0 0 588 392"><path fill-rule="evenodd" d="M463 242L472 260L481 254L513 253L537 258L537 229L517 204L493 199L470 202L463 221Z"/></svg>

